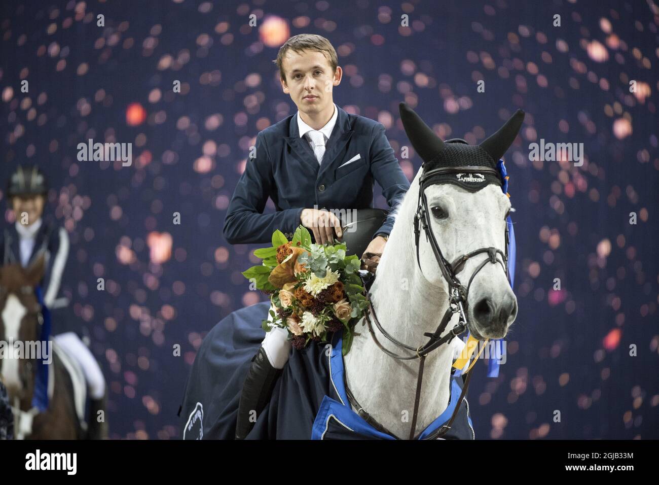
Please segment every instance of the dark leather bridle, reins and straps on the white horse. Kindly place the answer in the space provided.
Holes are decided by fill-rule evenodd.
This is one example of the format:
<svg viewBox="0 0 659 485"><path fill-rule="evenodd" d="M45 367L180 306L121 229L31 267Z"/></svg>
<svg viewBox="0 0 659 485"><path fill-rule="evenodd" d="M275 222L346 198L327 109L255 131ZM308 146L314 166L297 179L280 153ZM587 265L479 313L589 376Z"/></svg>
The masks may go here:
<svg viewBox="0 0 659 485"><path fill-rule="evenodd" d="M424 165L425 162L424 164L422 164L422 168L424 167ZM387 355L398 360L414 360L416 358L419 359L418 375L416 380L415 404L414 404L414 412L412 417L412 425L409 434L409 439L415 438L416 420L418 417L418 406L421 395L421 384L423 379L424 362L426 356L430 352L432 352L432 350L439 348L443 344L448 344L455 337L457 337L465 330L467 330L469 323L467 322L466 307L467 307L467 296L469 295L469 289L471 288L471 283L473 282L474 277L478 274L478 272L481 269L485 267L487 263L492 263L492 264L500 263L501 267L503 268L503 271L505 271L506 276L508 276L509 234L508 234L507 224L505 225L505 252L501 251L501 249L498 249L497 247L482 247L480 249L476 249L475 251L471 251L469 253L466 253L465 255L457 257L455 261L453 261L453 263L449 263L444 258L444 255L442 254L442 250L440 249L440 245L438 244L434 233L432 232L432 230L430 230L431 228L430 211L428 210L428 201L426 199L426 193L425 193L426 187L432 185L432 180L436 179L438 176L443 176L445 174L459 174L465 172L467 173L478 172L479 174L489 174L489 175L494 175L497 178L500 178L500 174L496 169L480 167L480 166L479 167L474 167L474 166L442 167L442 168L435 168L433 170L428 170L428 172L424 170L424 172L421 174L419 178L418 203L414 216L416 263L418 265L419 270L423 272L421 270L420 259L419 259L419 236L421 230L423 230L423 232L426 234L426 241L430 242L430 247L432 247L432 251L435 255L435 259L437 260L440 270L442 271L442 276L444 276L444 279L446 280L449 286L449 307L445 311L444 317L442 317L442 320L440 321L440 324L438 325L436 331L434 331L434 333L429 333L429 332L424 333L424 337L428 337L429 339L428 342L426 342L426 344L423 344L421 346L414 347L395 339L382 327L380 321L378 321L378 317L376 316L375 309L372 305L372 301L371 301L372 299L370 298L370 292L366 294L366 298L368 300L368 309L364 315L364 318L368 323L368 330L370 331L370 334L373 337L374 342L378 345L378 347L380 347L380 349ZM465 267L465 263L467 263L469 259L482 253L487 253L488 258L484 259L484 261L482 261L482 263L480 263L480 265L476 267L471 277L469 278L467 287L465 288L465 286L463 286L463 284L461 284L461 282L457 279L457 275L463 270L463 268ZM497 255L501 255L502 261L498 259ZM449 333L444 335L444 337L441 337L446 326L451 320L451 317L453 317L453 314L455 313L459 314L458 324L455 325L455 327L453 327L453 329L451 329ZM386 337L387 340L389 340L396 346L399 346L401 348L404 348L405 350L409 350L410 352L413 352L413 354L408 356L401 356L399 354L396 354L395 352L391 352L391 350L384 347L380 343L380 341L378 340L378 338L376 337L373 331L371 320L375 323L376 327L378 327L382 335L384 335L384 337ZM467 389L469 389L469 381L471 379L471 374L472 374L471 372L467 374L467 378L464 381L462 393L457 401L455 409L453 410L453 414L451 415L451 418L444 424L444 426L438 428L438 430L430 434L430 436L428 436L428 439L436 439L438 437L444 436L444 434L446 434L448 430L451 429L451 424L453 424L453 420L455 420L457 416L457 412L461 407L462 401L465 395L467 395ZM351 393L350 389L348 389L347 385L345 389L348 400L353 406L355 406L358 414L364 420L366 420L366 422L368 422L371 426L373 426L377 430L380 430L381 432L385 432L391 436L395 436L393 433L389 432L386 428L384 428L384 426L378 423L372 416L370 416L370 414L368 414L368 412L364 410L364 408L362 408L357 403L355 396L353 395L353 393Z"/></svg>

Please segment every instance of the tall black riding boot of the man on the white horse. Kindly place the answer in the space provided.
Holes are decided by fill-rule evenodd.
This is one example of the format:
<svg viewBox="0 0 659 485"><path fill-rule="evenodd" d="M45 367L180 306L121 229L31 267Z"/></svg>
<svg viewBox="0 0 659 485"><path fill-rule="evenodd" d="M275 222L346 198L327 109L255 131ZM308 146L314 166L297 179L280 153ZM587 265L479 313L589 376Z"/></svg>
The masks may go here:
<svg viewBox="0 0 659 485"><path fill-rule="evenodd" d="M236 439L244 439L254 426L256 418L272 395L281 369L275 369L270 364L266 350L261 347L252 358L252 365L241 392L241 401L238 406L238 420L236 422Z"/></svg>

